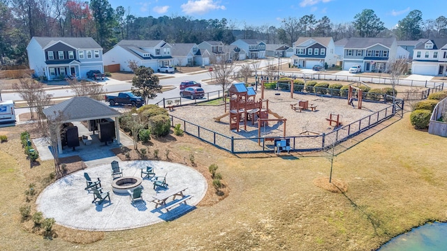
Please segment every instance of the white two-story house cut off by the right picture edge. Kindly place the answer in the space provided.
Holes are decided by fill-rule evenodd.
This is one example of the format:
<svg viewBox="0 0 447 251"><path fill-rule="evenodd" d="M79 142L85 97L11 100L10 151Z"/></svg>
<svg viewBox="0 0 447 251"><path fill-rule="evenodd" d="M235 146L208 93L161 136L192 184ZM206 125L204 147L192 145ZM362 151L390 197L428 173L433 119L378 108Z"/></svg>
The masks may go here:
<svg viewBox="0 0 447 251"><path fill-rule="evenodd" d="M447 38L427 39L413 50L411 73L447 75Z"/></svg>

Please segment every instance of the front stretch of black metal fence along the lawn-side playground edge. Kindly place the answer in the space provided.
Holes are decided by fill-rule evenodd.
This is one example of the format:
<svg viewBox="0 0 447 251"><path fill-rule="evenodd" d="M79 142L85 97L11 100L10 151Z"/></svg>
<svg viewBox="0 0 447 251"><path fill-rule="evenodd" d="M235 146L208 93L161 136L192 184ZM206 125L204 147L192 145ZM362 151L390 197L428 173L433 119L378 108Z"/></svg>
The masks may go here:
<svg viewBox="0 0 447 251"><path fill-rule="evenodd" d="M389 97L388 97L389 98ZM223 135L214 130L204 128L195 123L191 123L177 116L170 115L171 126L180 124L180 128L186 134L196 137L203 142L207 142L219 149L226 150L230 153L267 153L274 152L274 139L289 139L291 151L321 151L330 146L344 142L346 139L358 135L369 128L372 128L386 119L390 119L396 114L403 116L404 100L394 98L392 105L374 112L369 116L365 116L358 121L349 123L346 126L331 132L321 133L318 135L295 135L287 137L241 137Z"/></svg>

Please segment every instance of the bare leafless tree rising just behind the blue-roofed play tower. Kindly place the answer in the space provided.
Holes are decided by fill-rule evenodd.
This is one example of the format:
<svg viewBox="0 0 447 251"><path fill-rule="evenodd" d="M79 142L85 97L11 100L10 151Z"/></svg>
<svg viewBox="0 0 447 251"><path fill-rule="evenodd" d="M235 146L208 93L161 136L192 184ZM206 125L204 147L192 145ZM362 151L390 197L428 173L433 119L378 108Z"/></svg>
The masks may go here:
<svg viewBox="0 0 447 251"><path fill-rule="evenodd" d="M228 59L228 54L220 54L219 56L213 54L210 61L214 65L214 70L210 75L216 79L217 84L222 86L222 92L225 93L225 90L231 84L230 77L235 70L235 64L233 60Z"/></svg>

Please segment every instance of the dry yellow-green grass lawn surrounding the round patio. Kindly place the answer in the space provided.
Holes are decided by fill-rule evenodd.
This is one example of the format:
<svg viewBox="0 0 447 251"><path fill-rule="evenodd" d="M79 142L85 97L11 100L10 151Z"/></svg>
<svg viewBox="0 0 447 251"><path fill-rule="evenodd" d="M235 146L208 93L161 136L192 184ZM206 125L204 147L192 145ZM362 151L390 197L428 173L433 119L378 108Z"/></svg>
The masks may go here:
<svg viewBox="0 0 447 251"><path fill-rule="evenodd" d="M446 138L414 130L409 114L376 134L350 139L335 157L333 178L347 185L334 193L314 185L329 176L323 153L230 155L189 136L170 151L193 153L197 165L219 165L228 197L172 222L115 232L55 226L52 241L21 222L29 183L37 192L50 182L52 161L29 168L21 128L0 128L0 245L2 250L372 250L430 220L447 220ZM372 129L374 130L374 129ZM63 191L62 191L63 192Z"/></svg>

